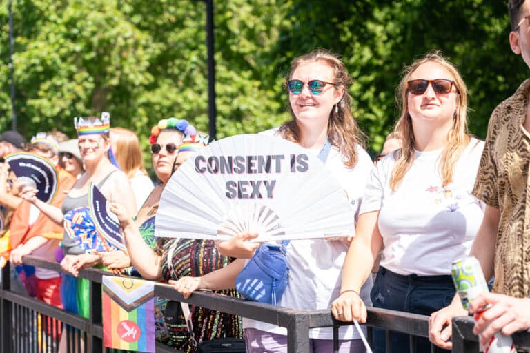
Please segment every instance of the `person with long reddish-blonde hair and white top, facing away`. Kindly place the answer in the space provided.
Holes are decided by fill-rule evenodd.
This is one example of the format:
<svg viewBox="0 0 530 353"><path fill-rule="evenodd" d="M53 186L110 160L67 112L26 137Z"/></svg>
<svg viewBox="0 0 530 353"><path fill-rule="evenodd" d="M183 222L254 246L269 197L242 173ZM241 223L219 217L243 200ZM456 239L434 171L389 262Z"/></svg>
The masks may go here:
<svg viewBox="0 0 530 353"><path fill-rule="evenodd" d="M138 137L126 128L110 128L110 148L119 168L130 181L135 193L136 208L139 210L153 191L154 185L144 168Z"/></svg>

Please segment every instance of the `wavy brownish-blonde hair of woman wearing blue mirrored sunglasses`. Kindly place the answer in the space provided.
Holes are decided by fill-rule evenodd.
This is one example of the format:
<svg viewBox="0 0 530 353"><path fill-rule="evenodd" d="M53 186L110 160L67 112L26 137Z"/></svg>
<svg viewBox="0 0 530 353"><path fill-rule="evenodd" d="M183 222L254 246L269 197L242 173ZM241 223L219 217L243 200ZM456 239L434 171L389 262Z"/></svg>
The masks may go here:
<svg viewBox="0 0 530 353"><path fill-rule="evenodd" d="M319 48L312 52L297 57L293 60L291 65L291 72L289 72L288 78L296 70L296 68L302 63L312 63L322 61L333 68L335 73L335 88L342 86L344 88L344 94L337 103L337 111L335 108L329 113L328 121L328 139L330 143L336 146L342 155L346 158L344 165L349 168L353 168L357 163L357 146L359 144L364 148L365 137L364 134L359 130L357 122L351 114L351 96L348 93L348 88L352 83L352 79L346 71L346 66L336 54L331 54L328 50ZM293 112L293 108L289 105L289 112L291 113L291 121L287 121L280 128L279 132L282 136L295 143L300 142L300 131L296 124L296 117Z"/></svg>

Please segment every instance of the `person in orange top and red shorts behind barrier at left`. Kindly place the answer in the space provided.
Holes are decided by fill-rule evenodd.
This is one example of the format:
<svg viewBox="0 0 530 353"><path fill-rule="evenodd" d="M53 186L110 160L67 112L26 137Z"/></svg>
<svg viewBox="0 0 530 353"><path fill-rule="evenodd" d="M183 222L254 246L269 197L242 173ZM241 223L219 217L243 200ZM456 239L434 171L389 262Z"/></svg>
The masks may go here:
<svg viewBox="0 0 530 353"><path fill-rule="evenodd" d="M69 172L59 166L59 148L57 141L48 133L37 134L27 148L28 152L51 161L57 168L59 185L52 205L61 207L66 193L77 181ZM10 261L12 265L21 265L22 256L34 254L48 261L55 260L55 250L63 238L63 227L49 219L30 202L23 200L15 210L10 223ZM36 268L37 299L56 307L62 307L59 292L61 276L59 272Z"/></svg>

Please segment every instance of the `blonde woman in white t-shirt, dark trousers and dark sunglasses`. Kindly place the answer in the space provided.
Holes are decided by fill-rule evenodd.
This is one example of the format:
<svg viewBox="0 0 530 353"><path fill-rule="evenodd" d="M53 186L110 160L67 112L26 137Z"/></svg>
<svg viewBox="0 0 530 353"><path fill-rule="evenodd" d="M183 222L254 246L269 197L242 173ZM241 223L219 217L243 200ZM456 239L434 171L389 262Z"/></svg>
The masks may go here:
<svg viewBox="0 0 530 353"><path fill-rule="evenodd" d="M382 250L371 292L374 307L429 315L455 292L451 263L467 256L483 216L471 195L484 143L467 131L467 88L438 52L406 68L397 88L401 148L384 157L366 188L333 316L366 321L359 296ZM384 332L374 330L375 352ZM393 332L392 351L409 352L409 336ZM430 351L418 338L416 352Z"/></svg>

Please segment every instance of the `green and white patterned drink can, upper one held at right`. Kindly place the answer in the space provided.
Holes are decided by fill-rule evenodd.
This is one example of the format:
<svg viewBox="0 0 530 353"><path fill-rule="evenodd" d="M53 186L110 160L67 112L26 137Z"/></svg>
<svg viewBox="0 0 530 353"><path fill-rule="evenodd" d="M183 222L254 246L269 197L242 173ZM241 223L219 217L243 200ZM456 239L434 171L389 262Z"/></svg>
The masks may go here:
<svg viewBox="0 0 530 353"><path fill-rule="evenodd" d="M451 276L453 276L453 282L462 301L462 306L466 310L469 310L471 303L479 294L489 292L480 262L473 256L453 262Z"/></svg>

